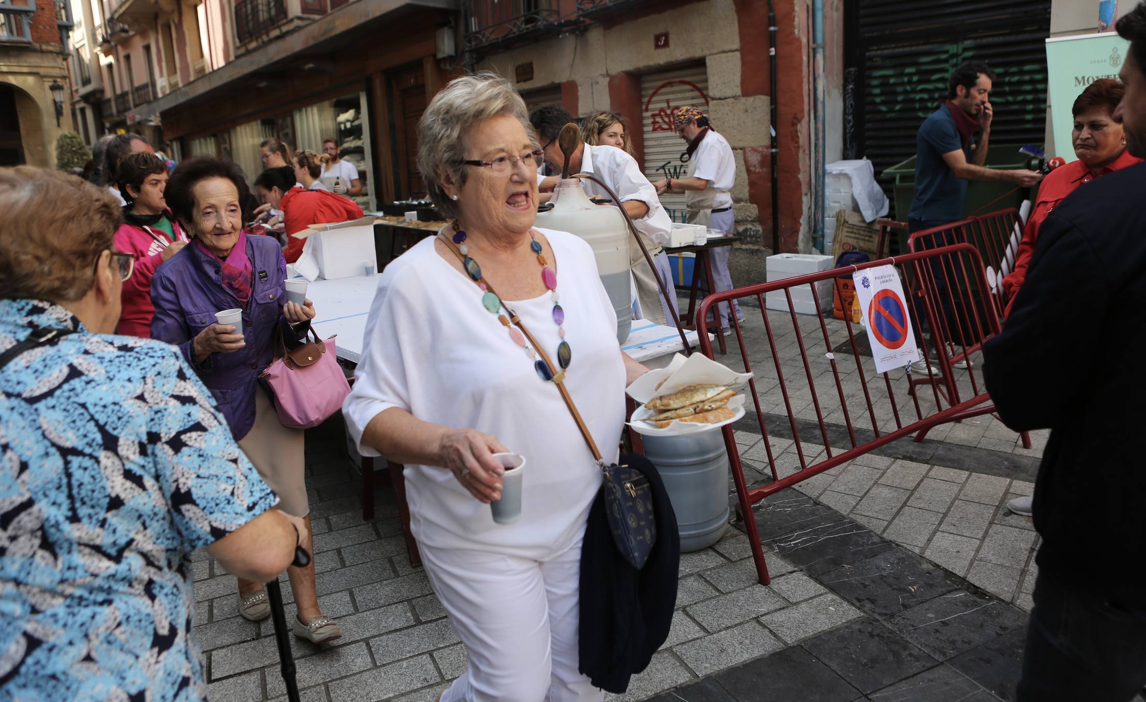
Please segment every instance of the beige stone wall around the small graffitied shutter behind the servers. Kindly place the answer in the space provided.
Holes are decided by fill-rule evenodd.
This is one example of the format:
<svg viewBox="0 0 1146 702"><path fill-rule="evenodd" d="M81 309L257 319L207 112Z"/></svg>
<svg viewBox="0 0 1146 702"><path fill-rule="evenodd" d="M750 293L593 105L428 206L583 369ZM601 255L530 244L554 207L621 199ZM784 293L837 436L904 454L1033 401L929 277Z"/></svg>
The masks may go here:
<svg viewBox="0 0 1146 702"><path fill-rule="evenodd" d="M763 259L770 253L766 247L771 245L771 215L768 210L771 194L767 180L771 145L770 97L766 90L759 89L755 74L744 80L746 65L748 71L758 71L760 46L753 46L749 55L741 54L741 38L749 36L754 37L754 44L764 47L763 54L767 55L768 34L767 25L747 31L739 25L744 9L740 6L744 5L758 10L754 6L763 6L763 2L692 2L660 14L629 21L621 18L610 26L594 25L580 36L559 37L495 54L477 65L479 70L492 70L512 79L518 64L532 62L533 79L517 84L519 90L555 85L564 87L573 82L576 86L576 112L580 115L597 110L629 115L634 112L633 105L638 105L641 101L642 73L702 61L708 77L709 118L736 156L737 178L732 198L737 232L743 240L733 247L730 268L737 285L764 279ZM653 34L666 31L669 32L669 47L654 48ZM796 74L802 71L802 64L788 68ZM747 95L745 85L748 86ZM633 129L634 133L636 131ZM799 183L795 188L799 190ZM796 207L802 206L799 192L795 203ZM764 214L767 216L762 222ZM795 219L788 227L799 231L802 211L792 207L790 216Z"/></svg>

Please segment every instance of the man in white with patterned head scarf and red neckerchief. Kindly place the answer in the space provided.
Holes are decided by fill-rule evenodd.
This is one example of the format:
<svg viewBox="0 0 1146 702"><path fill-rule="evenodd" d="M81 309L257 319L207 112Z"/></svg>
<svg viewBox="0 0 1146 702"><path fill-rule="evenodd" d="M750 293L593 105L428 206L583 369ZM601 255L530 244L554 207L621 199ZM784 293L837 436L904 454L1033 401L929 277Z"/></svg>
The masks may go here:
<svg viewBox="0 0 1146 702"><path fill-rule="evenodd" d="M689 223L704 224L715 231L732 234L736 215L732 213L732 195L729 192L736 181L736 160L728 140L713 131L708 118L694 107L676 111L676 133L688 142L689 178L669 178L653 183L657 194L683 192L689 208ZM714 291L732 289L732 276L728 271L731 246L720 246L708 252L712 263ZM702 275L704 271L698 271ZM739 305L732 301L736 317L744 321ZM720 324L723 333L730 330L730 311L727 302L720 305Z"/></svg>

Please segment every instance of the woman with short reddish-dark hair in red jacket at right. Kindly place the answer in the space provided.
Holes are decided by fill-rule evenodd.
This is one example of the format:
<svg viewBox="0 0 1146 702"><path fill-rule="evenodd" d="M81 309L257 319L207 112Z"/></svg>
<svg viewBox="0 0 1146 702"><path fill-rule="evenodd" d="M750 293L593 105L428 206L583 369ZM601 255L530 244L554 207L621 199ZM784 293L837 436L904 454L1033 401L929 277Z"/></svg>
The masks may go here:
<svg viewBox="0 0 1146 702"><path fill-rule="evenodd" d="M1120 171L1127 166L1141 163L1127 151L1127 139L1122 134L1122 125L1112 117L1114 109L1122 102L1125 86L1117 80L1100 78L1086 86L1075 98L1074 115L1074 149L1078 160L1059 166L1043 179L1038 186L1038 197L1035 208L1022 230L1022 242L1015 257L1014 270L1003 278L1003 290L1006 292L1006 314L1011 314L1015 294L1027 278L1027 268L1035 253L1035 242L1038 239L1038 227L1043 220L1075 191L1080 186L1096 178Z"/></svg>

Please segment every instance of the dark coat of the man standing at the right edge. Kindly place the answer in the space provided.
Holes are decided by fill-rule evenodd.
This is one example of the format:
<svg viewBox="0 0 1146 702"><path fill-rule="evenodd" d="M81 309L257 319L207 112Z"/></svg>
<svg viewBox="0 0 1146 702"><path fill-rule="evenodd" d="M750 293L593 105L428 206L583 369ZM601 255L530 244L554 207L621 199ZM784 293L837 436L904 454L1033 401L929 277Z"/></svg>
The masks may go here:
<svg viewBox="0 0 1146 702"><path fill-rule="evenodd" d="M983 346L999 417L1050 427L1035 483L1039 575L1141 607L1146 164L1070 194L1039 228L1003 333Z"/></svg>

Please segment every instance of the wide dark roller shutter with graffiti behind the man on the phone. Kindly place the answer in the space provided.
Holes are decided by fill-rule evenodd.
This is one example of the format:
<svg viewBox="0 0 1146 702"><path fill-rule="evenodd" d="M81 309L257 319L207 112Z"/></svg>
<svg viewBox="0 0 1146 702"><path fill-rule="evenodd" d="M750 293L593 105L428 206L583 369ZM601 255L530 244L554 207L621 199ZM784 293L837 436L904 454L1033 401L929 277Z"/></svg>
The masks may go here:
<svg viewBox="0 0 1146 702"><path fill-rule="evenodd" d="M1045 140L1051 0L854 0L848 11L845 157L871 159L889 196L884 169L915 156L919 125L964 61L997 73L992 144Z"/></svg>

